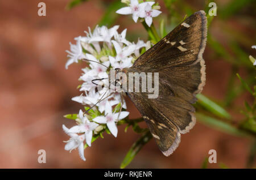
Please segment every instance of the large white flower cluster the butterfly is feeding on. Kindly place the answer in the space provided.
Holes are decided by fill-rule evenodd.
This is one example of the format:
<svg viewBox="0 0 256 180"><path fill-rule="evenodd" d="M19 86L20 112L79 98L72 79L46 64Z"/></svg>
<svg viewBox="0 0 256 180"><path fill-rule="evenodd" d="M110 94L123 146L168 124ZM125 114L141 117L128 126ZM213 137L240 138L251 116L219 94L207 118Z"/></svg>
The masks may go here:
<svg viewBox="0 0 256 180"><path fill-rule="evenodd" d="M89 28L89 32L85 32L86 36L76 37L76 44L70 44L71 50L67 50L69 59L66 68L82 60L88 65L82 68L79 78L82 82L79 88L83 93L72 100L85 105L85 110L91 109L88 113L80 110L75 118L72 116L71 119L77 122L76 126L67 128L63 125L64 132L71 136L65 150L78 148L82 160L85 160L84 146L91 145L93 136L106 130L116 137L117 121L129 114L125 111L125 101L121 106L121 95L108 91L110 68L131 67L141 55L142 49L145 50L148 46L142 40L137 43L126 40L126 29L119 34L118 27L115 25L108 29L96 26L93 32ZM93 80L96 79L100 80L94 83ZM99 89L99 86L103 88Z"/></svg>

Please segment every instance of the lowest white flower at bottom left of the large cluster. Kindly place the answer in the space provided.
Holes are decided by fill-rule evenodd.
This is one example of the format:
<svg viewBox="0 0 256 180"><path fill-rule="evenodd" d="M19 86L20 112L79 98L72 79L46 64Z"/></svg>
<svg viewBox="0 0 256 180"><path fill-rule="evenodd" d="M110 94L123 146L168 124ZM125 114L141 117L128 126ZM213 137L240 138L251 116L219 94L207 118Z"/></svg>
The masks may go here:
<svg viewBox="0 0 256 180"><path fill-rule="evenodd" d="M64 132L67 135L71 136L71 138L67 142L65 142L67 144L65 145L64 149L66 151L71 152L73 149L78 148L79 156L81 157L82 160L85 161L85 157L84 157L84 143L83 143L84 140L85 140L85 134L77 135L76 133L70 133L70 132L68 132L69 129L65 125L62 125L62 127L63 127Z"/></svg>

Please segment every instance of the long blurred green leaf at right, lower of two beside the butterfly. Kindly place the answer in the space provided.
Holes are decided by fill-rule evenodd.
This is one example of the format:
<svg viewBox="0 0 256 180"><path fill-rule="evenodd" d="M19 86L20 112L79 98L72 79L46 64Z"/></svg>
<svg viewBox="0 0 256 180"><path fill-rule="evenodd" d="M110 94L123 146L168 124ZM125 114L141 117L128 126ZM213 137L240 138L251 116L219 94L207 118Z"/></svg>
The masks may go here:
<svg viewBox="0 0 256 180"><path fill-rule="evenodd" d="M235 135L235 136L245 136L248 138L251 138L251 135L247 133L246 131L240 130L239 128L236 128L229 123L220 121L219 119L209 117L207 115L201 114L201 113L196 113L196 118L204 123L205 125L211 127L211 128L216 128L217 130L220 130L222 132Z"/></svg>

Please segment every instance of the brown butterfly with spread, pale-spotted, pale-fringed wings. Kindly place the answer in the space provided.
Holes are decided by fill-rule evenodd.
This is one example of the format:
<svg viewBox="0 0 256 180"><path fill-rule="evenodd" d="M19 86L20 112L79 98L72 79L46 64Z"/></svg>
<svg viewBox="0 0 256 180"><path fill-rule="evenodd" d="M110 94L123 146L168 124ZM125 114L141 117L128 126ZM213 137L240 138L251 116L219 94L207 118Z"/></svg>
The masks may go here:
<svg viewBox="0 0 256 180"><path fill-rule="evenodd" d="M141 112L156 144L165 156L171 155L185 134L195 125L196 94L205 84L203 52L207 40L204 11L195 12L172 32L141 55L130 68L116 72L158 72L159 96L148 92L127 92ZM117 79L119 84L128 79Z"/></svg>

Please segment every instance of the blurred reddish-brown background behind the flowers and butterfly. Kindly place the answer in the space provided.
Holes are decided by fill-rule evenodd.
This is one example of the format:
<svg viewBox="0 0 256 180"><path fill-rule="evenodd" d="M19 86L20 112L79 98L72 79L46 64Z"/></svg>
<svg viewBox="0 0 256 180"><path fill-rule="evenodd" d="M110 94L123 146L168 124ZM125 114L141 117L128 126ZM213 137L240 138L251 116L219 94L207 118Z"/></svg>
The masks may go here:
<svg viewBox="0 0 256 180"><path fill-rule="evenodd" d="M0 168L119 168L131 144L138 138L130 128L118 128L118 137L105 134L91 148L86 148L82 161L76 150L64 150L68 136L61 125L74 123L64 114L77 113L82 107L71 98L80 95L76 89L81 65L65 70L69 41L84 36L87 27L94 27L104 13L98 1L89 1L65 10L68 0L44 0L47 16L38 16L40 1L0 1ZM200 8L200 7L199 7ZM202 7L203 8L203 7ZM143 30L133 23L124 28ZM221 35L220 35L221 36ZM230 73L228 63L207 61L207 84L203 93L223 98ZM140 117L128 101L130 118ZM238 114L239 115L239 114ZM38 163L38 150L45 149L46 164ZM244 168L249 140L237 138L197 123L173 155L165 157L151 140L128 168L200 168L209 149L216 149L218 168L224 162L229 168Z"/></svg>

